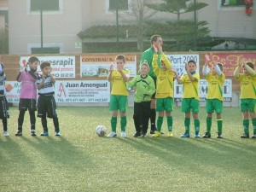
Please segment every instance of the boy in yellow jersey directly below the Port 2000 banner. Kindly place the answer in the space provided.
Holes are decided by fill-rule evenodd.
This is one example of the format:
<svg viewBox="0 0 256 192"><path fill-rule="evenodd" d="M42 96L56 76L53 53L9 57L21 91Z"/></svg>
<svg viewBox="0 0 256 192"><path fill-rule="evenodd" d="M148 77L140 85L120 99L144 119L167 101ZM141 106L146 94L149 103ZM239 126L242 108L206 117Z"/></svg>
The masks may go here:
<svg viewBox="0 0 256 192"><path fill-rule="evenodd" d="M182 112L185 113L184 125L185 133L181 137L190 137L190 111L194 118L195 138L200 137L200 121L198 119L199 113L199 73L196 73L196 62L189 60L185 66L187 74L183 74L181 78L176 78L178 84L183 84L183 101Z"/></svg>

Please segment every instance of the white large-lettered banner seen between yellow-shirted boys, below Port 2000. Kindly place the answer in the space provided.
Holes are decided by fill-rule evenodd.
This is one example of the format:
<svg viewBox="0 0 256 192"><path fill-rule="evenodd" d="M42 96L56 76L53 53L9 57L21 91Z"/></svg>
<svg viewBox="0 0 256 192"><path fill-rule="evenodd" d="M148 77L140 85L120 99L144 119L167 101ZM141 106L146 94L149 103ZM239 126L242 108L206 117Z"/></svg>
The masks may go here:
<svg viewBox="0 0 256 192"><path fill-rule="evenodd" d="M201 79L199 82L200 101L205 101L208 92L208 82L206 79ZM223 96L225 102L232 101L232 79L226 79L223 85ZM183 97L183 85L174 82L174 99L181 100Z"/></svg>

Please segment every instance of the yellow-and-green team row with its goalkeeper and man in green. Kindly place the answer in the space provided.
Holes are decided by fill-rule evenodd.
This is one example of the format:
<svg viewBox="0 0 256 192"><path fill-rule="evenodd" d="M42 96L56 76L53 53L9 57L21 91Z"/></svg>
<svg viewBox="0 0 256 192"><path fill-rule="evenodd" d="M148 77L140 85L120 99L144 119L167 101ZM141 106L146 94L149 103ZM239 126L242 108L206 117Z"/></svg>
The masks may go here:
<svg viewBox="0 0 256 192"><path fill-rule="evenodd" d="M116 68L110 66L108 81L111 82L112 90L110 96L110 120L111 132L107 137L116 137L117 116L120 115L121 137L126 137L126 103L128 90L135 88L134 114L135 125L134 137L145 137L148 133L148 121L150 119L152 137L161 136L161 126L166 114L168 133L172 137L172 106L173 106L173 82L183 84L182 112L184 113L184 134L181 137L190 137L190 116L192 113L195 125L195 137L201 137L199 113L199 80L200 75L196 73L197 64L190 60L185 65L186 74L178 76L172 68L162 50L162 38L160 35L151 37L151 47L143 52L140 61L140 74L129 81L129 71L125 70L125 56L116 56ZM204 138L211 137L212 113L216 113L218 122L218 138L223 138L223 84L225 75L223 64L213 60L212 54L205 55L205 65L202 74L208 82L207 91L207 131ZM210 68L209 66L212 65ZM241 72L242 71L242 72ZM256 138L256 73L254 64L249 61L237 63L234 76L240 82L240 108L243 115L242 126L244 133L241 138L249 137L249 118L252 119L253 137ZM156 112L158 118L156 119Z"/></svg>

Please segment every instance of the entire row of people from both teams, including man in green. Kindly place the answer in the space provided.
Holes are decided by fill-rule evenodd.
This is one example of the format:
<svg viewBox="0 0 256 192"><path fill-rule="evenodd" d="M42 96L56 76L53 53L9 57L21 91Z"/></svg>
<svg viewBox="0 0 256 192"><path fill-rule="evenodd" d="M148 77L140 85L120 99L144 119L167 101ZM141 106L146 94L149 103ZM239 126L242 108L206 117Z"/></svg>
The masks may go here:
<svg viewBox="0 0 256 192"><path fill-rule="evenodd" d="M116 56L116 68L110 66L108 81L111 82L111 96L109 108L112 111L110 120L111 132L108 137L116 137L117 116L120 115L121 137L126 137L126 106L128 90L135 89L134 114L135 125L134 137L145 137L148 133L150 119L150 133L152 137L161 136L161 126L166 114L168 132L167 136L172 137L172 108L173 108L173 82L183 84L182 112L184 113L184 134L181 137L190 137L190 116L192 113L195 126L195 137L201 137L199 113L199 80L200 75L196 73L197 64L190 60L185 65L186 74L178 76L172 68L162 50L162 38L154 35L151 38L151 47L143 52L140 61L140 74L130 79L130 72L125 67L125 55ZM207 131L204 138L211 137L212 113L217 114L218 138L222 138L223 129L223 84L225 80L223 64L212 59L212 54L205 55L205 65L202 74L208 82L207 91ZM38 57L28 58L25 68L20 70L17 81L20 82L20 103L18 128L15 136L22 136L22 125L26 110L28 110L31 122L31 134L36 135L35 111L38 108L38 117L41 118L43 132L41 136L48 136L47 117L53 119L55 125L55 136L61 136L58 115L55 104L55 77L51 74L50 63L44 61L40 68L42 75L38 75ZM209 66L212 65L210 68ZM242 69L242 72L241 72ZM249 61L237 63L234 76L240 82L240 108L243 116L242 126L244 133L241 138L249 137L249 119L252 119L253 137L256 138L256 73L254 64ZM9 136L8 121L9 108L5 97L4 65L0 65L0 119L3 119L4 136ZM38 91L37 91L38 90ZM37 104L38 92L38 104ZM156 120L156 112L158 118ZM156 123L155 123L156 121Z"/></svg>

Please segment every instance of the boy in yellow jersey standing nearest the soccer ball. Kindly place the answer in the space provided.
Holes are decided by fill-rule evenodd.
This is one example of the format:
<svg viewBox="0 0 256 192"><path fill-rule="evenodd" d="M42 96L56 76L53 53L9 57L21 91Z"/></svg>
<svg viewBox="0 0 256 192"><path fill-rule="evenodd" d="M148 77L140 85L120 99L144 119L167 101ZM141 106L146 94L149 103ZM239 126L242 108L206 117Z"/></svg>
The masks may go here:
<svg viewBox="0 0 256 192"><path fill-rule="evenodd" d="M115 58L117 68L113 69L113 64L110 66L108 73L108 81L111 82L112 90L110 95L110 111L112 111L111 129L112 132L107 137L116 137L117 115L119 111L121 123L121 137L126 137L126 108L128 90L126 84L129 80L130 72L125 67L125 55L117 55Z"/></svg>

